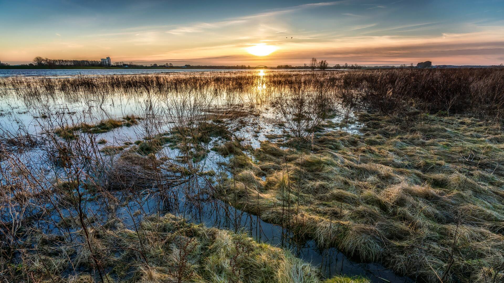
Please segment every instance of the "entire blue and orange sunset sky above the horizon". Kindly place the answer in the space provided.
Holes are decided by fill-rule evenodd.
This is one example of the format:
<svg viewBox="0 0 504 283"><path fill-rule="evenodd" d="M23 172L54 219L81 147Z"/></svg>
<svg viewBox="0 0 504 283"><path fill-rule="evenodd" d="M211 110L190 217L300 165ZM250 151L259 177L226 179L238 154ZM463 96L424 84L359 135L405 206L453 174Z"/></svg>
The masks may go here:
<svg viewBox="0 0 504 283"><path fill-rule="evenodd" d="M491 65L504 63L503 10L504 0L0 0L0 61Z"/></svg>

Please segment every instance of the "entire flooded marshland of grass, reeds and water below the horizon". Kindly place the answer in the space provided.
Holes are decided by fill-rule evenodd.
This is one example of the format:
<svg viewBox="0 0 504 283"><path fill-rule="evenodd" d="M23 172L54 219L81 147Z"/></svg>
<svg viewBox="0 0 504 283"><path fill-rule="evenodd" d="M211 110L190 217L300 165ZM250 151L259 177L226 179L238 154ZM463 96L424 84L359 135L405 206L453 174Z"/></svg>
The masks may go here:
<svg viewBox="0 0 504 283"><path fill-rule="evenodd" d="M0 77L0 282L504 282L504 69Z"/></svg>

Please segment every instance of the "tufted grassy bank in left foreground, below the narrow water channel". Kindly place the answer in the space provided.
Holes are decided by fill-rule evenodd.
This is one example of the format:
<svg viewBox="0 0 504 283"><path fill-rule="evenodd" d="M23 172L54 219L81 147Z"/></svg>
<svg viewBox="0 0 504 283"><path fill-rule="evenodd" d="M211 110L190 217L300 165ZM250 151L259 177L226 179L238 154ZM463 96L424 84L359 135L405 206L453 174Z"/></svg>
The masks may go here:
<svg viewBox="0 0 504 283"><path fill-rule="evenodd" d="M67 219L79 226L78 219ZM150 217L135 229L110 221L100 229L76 234L83 243L32 233L36 254L16 272L37 282L322 282L316 268L289 252L216 228L187 224L167 215ZM71 260L72 259L72 260ZM96 264L98 263L98 264ZM69 264L80 272L62 276ZM361 277L337 276L330 283L368 283Z"/></svg>

